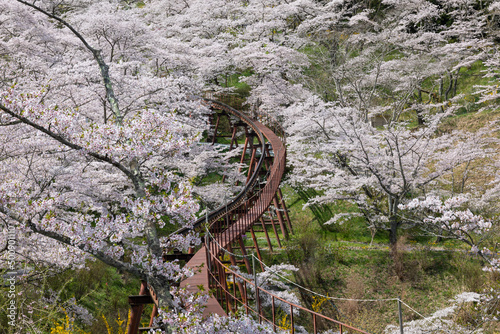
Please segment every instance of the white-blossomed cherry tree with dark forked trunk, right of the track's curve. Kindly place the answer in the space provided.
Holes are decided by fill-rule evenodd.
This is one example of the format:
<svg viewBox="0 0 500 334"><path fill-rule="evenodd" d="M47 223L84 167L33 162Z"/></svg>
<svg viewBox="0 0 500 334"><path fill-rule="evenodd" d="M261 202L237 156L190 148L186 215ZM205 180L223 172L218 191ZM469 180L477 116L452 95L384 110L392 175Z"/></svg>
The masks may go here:
<svg viewBox="0 0 500 334"><path fill-rule="evenodd" d="M429 115L425 127L411 129L400 121L377 129L362 111L314 96L293 108L313 112L296 117L289 127L291 181L322 191L315 203L356 204L370 224L389 229L391 243L404 223L398 205L408 195L435 186L455 166L489 152L484 133L436 135L448 113Z"/></svg>

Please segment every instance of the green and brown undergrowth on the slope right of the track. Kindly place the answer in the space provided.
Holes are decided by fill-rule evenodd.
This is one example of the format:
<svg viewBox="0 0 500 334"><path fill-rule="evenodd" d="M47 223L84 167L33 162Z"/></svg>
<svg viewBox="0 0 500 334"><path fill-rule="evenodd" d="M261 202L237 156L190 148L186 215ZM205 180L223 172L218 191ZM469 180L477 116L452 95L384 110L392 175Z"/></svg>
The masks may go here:
<svg viewBox="0 0 500 334"><path fill-rule="evenodd" d="M401 298L411 306L413 310L403 308L403 321L409 322L448 307L462 292L480 293L498 284L498 277L482 270L485 263L458 241L436 242L408 230L391 252L386 232L377 231L370 245L371 233L361 219L325 229L312 211L303 209L291 188L285 193L293 203L289 211L295 234L281 252L266 252L265 262L293 263L299 268L298 284L323 295L353 299L322 303L320 313L327 316L381 333L387 325L398 324L397 302L387 299ZM332 204L330 209L335 213L342 207ZM299 294L308 308L318 308L318 297ZM467 310L462 307L455 317L472 328L477 314Z"/></svg>

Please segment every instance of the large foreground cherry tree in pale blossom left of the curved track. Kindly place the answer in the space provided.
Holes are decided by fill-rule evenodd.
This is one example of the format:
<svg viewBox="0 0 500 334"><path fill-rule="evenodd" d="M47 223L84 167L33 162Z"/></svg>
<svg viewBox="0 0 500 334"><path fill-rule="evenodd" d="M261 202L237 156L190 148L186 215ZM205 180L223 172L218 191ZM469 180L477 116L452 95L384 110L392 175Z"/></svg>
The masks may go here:
<svg viewBox="0 0 500 334"><path fill-rule="evenodd" d="M198 84L154 66L164 52L147 44L157 35L138 7L0 6L2 234L15 227L20 263L64 268L90 255L147 281L161 307L176 309L170 283L190 272L163 261L162 231L189 225L199 210L169 165L205 127ZM180 248L197 243L176 239Z"/></svg>

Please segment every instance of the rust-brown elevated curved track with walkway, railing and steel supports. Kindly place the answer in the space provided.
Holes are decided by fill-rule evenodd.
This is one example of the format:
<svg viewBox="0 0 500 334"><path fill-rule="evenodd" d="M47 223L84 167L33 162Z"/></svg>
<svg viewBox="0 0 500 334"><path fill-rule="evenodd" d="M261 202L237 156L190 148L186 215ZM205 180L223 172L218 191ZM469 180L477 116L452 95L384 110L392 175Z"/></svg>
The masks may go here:
<svg viewBox="0 0 500 334"><path fill-rule="evenodd" d="M181 287L186 287L192 292L198 291L199 286L203 286L205 291L215 291L208 301L204 315L216 313L226 316L243 310L259 322L268 323L276 331L284 329L278 326L276 316L278 312L285 310L289 316L287 330L291 333L295 332L297 325L294 317L297 318L297 314L301 313L302 320L307 318L303 314L309 314L310 323L305 325L309 332L318 333L320 329L333 329L338 330L339 333L368 334L363 330L286 301L276 292L263 289L258 282L256 284L255 264L253 266L250 264L247 252L247 248L254 248L258 258L261 259L261 246L257 242L254 226L262 228L261 232L265 234L270 251L273 247L270 235L276 238L276 242L281 247L278 230L282 238L288 238L289 232L292 232L279 189L286 161L284 131L269 115L254 112L252 117L250 114L229 106L231 101L224 101L229 102L224 103L221 102L220 96L216 98L204 99L204 103L212 111L218 111L215 113L217 120L212 122L214 123L212 143L216 141L221 117L225 116L228 124L232 126L231 148L238 146L237 127L245 130L241 162L248 160L247 182L244 189L229 203L198 219L192 228L182 228L175 232L175 234L185 234L194 230L204 235L204 242L195 254L174 252L164 256L166 260L173 258L187 260L186 265L193 268L201 266L201 271L184 280ZM268 233L268 226L272 227L270 233ZM252 235L253 246L245 245L243 236L248 232ZM236 248L239 248L240 258L243 261L237 260L234 253ZM193 252L194 250L190 253ZM248 274L254 274L255 279L248 279L248 276L244 277L241 272L234 270L238 262L246 267ZM262 265L261 268L264 270ZM269 307L262 306L264 299L270 304ZM136 334L149 330L151 327L139 328L139 320L143 305L154 303L150 321L150 326L152 326L157 312L154 291L148 289L146 283L143 282L139 296L130 296L129 302L132 312L128 333Z"/></svg>

